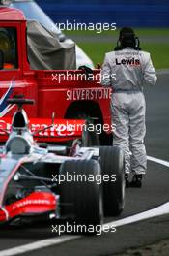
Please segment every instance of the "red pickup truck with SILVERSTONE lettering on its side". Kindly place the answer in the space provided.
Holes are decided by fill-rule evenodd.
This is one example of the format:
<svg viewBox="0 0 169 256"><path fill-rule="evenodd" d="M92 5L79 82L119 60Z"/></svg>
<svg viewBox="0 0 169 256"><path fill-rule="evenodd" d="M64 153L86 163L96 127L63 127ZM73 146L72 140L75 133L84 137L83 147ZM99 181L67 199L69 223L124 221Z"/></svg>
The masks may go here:
<svg viewBox="0 0 169 256"><path fill-rule="evenodd" d="M100 70L94 70L93 79L89 80L82 76L84 70L32 69L27 48L25 16L17 9L1 7L0 117L14 114L14 106L6 103L8 98L24 95L36 102L26 107L31 118L49 118L52 112L57 118L93 117L95 123L105 125L100 139L101 144L107 144L105 138L110 140L112 133L111 89L100 85Z"/></svg>

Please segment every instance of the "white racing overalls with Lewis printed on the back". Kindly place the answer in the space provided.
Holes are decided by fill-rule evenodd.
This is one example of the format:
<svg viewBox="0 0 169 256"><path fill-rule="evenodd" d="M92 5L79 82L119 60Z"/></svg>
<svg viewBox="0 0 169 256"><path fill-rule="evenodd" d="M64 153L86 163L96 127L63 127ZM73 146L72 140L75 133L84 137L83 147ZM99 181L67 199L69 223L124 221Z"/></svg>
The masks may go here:
<svg viewBox="0 0 169 256"><path fill-rule="evenodd" d="M114 74L116 80L113 80ZM132 48L106 53L101 70L101 84L113 88L113 144L124 149L126 173L131 171L133 174L145 174L147 170L143 86L155 85L156 80L150 53Z"/></svg>

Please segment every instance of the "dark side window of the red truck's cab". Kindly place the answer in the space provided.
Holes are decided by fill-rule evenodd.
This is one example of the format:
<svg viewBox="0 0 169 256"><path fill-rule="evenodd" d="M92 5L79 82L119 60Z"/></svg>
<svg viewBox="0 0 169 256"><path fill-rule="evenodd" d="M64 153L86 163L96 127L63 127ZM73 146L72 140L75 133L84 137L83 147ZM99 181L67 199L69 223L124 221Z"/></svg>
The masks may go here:
<svg viewBox="0 0 169 256"><path fill-rule="evenodd" d="M16 29L14 27L0 27L0 50L4 54L3 70L18 68L16 39Z"/></svg>

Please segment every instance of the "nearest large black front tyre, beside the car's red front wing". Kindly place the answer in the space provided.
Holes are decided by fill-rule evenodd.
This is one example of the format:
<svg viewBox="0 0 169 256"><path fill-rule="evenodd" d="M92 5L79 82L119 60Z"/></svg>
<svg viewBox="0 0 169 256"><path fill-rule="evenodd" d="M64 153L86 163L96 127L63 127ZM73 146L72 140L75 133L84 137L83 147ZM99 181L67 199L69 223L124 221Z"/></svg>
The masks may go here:
<svg viewBox="0 0 169 256"><path fill-rule="evenodd" d="M61 217L70 219L72 233L96 234L102 223L102 191L97 183L99 162L69 160L61 165L60 175L67 177L60 184Z"/></svg>

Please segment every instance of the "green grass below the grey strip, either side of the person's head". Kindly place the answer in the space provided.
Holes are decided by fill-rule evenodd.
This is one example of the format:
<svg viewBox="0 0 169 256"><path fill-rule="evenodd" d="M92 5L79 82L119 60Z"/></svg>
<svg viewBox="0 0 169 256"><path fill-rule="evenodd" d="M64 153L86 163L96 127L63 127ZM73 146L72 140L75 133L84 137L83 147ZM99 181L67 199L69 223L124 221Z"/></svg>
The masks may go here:
<svg viewBox="0 0 169 256"><path fill-rule="evenodd" d="M94 64L102 63L105 52L111 51L115 45L110 43L79 43L80 48L92 58ZM145 51L151 52L155 69L169 68L169 44L143 44Z"/></svg>

